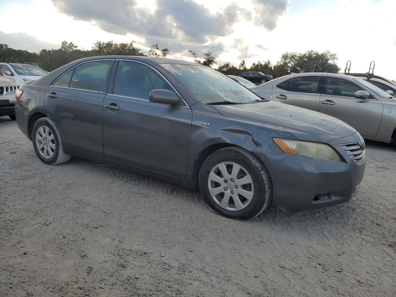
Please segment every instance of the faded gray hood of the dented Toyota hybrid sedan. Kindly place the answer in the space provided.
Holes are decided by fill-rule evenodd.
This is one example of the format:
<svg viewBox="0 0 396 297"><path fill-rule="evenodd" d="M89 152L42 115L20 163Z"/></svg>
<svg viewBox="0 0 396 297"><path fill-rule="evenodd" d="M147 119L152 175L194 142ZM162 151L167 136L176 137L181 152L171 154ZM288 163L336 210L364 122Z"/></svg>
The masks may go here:
<svg viewBox="0 0 396 297"><path fill-rule="evenodd" d="M300 140L327 143L356 133L354 128L332 116L274 101L213 107L227 118L281 129Z"/></svg>

